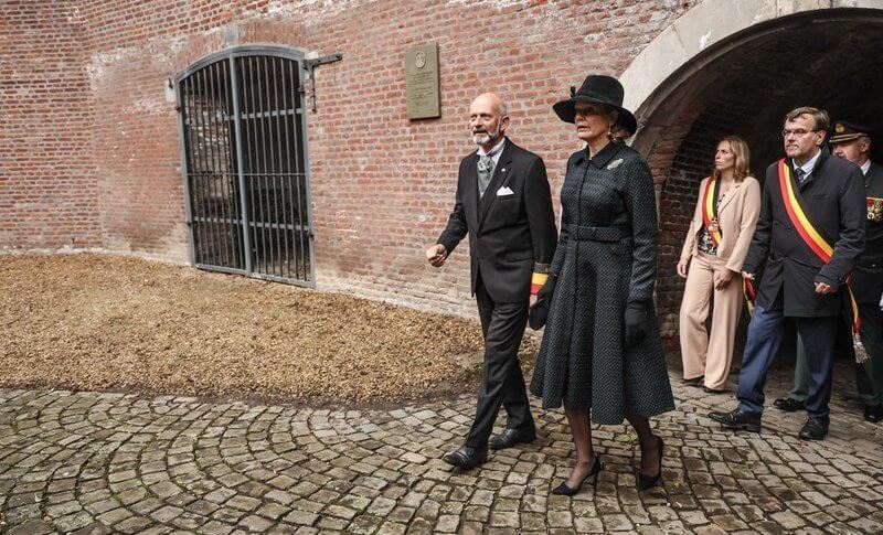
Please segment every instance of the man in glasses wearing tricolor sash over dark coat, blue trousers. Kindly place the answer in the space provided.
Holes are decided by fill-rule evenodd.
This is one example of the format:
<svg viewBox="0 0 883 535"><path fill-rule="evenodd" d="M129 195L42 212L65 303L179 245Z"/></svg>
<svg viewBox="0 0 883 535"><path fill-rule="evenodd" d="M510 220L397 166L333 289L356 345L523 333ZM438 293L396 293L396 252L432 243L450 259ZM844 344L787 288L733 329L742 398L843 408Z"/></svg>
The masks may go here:
<svg viewBox="0 0 883 535"><path fill-rule="evenodd" d="M760 430L764 383L781 345L786 319L794 320L810 373L802 439L827 436L828 402L837 324L847 313L859 330L860 317L849 277L865 239L862 173L822 150L828 114L797 108L785 118L787 158L767 168L760 218L743 265L754 279L754 315L748 325L736 398L738 407L710 417L732 429Z"/></svg>

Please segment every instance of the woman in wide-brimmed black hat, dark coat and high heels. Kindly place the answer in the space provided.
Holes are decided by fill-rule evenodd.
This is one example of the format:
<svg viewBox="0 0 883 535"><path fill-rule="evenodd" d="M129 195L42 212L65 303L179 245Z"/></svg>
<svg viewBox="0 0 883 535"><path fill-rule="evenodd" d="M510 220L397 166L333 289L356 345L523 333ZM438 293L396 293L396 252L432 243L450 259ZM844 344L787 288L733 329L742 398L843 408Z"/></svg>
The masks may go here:
<svg viewBox="0 0 883 535"><path fill-rule="evenodd" d="M531 392L543 407L560 407L576 447L573 473L553 494L573 495L602 470L592 447L591 419L635 427L641 448L640 490L659 481L662 439L649 418L674 408L652 295L656 281L656 195L650 168L618 142L635 116L623 108L623 86L588 76L554 106L576 126L585 149L567 160L561 189L561 237L533 310L547 322Z"/></svg>

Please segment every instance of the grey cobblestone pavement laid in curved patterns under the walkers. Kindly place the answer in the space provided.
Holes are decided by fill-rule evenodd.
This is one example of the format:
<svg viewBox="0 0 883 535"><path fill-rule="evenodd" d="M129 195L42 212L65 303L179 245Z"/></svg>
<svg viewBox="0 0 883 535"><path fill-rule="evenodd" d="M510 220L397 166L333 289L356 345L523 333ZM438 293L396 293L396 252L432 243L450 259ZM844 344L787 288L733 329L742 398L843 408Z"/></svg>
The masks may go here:
<svg viewBox="0 0 883 535"><path fill-rule="evenodd" d="M439 458L459 446L472 396L320 410L0 390L0 532L883 532L883 432L854 399L837 395L831 438L804 442L802 415L770 409L762 434L735 435L705 417L732 394L672 381L678 410L656 420L664 485L636 492L635 437L604 427L598 486L574 499L549 495L573 462L557 410L540 416L536 442L454 473Z"/></svg>

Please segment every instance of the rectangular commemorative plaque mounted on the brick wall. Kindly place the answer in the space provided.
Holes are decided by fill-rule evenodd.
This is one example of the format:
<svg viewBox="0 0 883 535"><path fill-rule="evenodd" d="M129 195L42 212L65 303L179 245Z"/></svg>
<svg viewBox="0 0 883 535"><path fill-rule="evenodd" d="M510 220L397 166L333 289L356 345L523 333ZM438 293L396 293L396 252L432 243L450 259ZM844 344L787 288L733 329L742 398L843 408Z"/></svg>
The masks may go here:
<svg viewBox="0 0 883 535"><path fill-rule="evenodd" d="M405 94L408 119L440 117L438 93L438 43L406 50Z"/></svg>

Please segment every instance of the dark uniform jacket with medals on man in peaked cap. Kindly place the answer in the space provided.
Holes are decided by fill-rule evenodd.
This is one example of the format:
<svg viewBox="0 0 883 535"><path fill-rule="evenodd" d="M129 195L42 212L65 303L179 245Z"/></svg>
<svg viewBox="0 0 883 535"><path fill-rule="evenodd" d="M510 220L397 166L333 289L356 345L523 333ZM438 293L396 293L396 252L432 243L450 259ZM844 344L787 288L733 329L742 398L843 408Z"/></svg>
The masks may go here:
<svg viewBox="0 0 883 535"><path fill-rule="evenodd" d="M852 291L859 304L880 303L883 295L883 165L871 162L864 175L868 197L868 237L852 271Z"/></svg>

